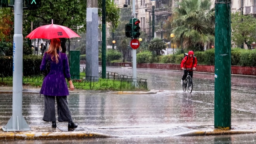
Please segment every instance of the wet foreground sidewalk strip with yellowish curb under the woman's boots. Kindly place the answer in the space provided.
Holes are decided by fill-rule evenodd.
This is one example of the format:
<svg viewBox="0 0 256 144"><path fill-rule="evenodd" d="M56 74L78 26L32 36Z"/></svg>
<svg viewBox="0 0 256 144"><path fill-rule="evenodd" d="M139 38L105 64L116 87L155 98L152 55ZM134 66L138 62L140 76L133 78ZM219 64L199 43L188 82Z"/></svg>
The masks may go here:
<svg viewBox="0 0 256 144"><path fill-rule="evenodd" d="M85 138L132 138L132 137L168 137L168 136L210 136L224 134L251 134L254 130L236 129L240 126L232 126L233 130L215 130L214 126L158 126L158 127L103 127L88 128L78 127L68 131L64 127L38 127L31 126L32 131L27 132L3 132L0 131L0 140L46 140L46 139L85 139Z"/></svg>

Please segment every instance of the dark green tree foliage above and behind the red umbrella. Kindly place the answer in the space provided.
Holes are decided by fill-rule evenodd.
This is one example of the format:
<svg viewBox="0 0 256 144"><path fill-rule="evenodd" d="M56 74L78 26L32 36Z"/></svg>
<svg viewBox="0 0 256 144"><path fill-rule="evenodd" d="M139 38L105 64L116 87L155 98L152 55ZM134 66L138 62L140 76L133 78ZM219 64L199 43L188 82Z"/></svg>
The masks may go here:
<svg viewBox="0 0 256 144"><path fill-rule="evenodd" d="M102 0L98 0L98 14L102 16ZM106 0L106 22L112 22L115 26L118 24L120 9L112 0ZM24 10L24 35L33 28L40 25L54 24L67 26L75 32L86 31L86 0L42 0L41 7L37 10Z"/></svg>

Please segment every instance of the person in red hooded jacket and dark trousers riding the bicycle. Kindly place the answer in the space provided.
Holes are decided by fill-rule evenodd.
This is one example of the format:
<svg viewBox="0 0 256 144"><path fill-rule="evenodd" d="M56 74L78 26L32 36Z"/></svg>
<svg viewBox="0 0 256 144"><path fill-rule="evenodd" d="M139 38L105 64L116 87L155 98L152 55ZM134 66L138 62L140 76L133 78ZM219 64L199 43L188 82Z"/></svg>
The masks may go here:
<svg viewBox="0 0 256 144"><path fill-rule="evenodd" d="M185 56L181 61L180 67L182 70L184 70L185 68L193 68L194 70L196 70L196 65L197 60L196 57L194 56L194 52L191 50L188 52L188 56ZM185 80L187 77L186 71L187 70L184 70L184 75L180 81L180 84L183 84L183 80ZM193 78L193 70L189 70L189 75L191 76L191 78Z"/></svg>

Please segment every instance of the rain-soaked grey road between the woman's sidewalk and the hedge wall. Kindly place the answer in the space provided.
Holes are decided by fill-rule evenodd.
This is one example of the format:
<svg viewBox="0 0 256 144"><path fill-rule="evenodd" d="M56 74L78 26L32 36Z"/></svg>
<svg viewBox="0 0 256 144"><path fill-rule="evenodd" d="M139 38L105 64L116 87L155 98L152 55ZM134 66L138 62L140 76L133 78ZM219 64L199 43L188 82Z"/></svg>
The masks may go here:
<svg viewBox="0 0 256 144"><path fill-rule="evenodd" d="M132 76L132 69L128 68L107 67L107 71ZM180 85L182 74L183 72L179 71L138 69L137 76L148 79L149 89L162 90L157 94L122 95L100 91L73 93L68 96L73 120L84 127L151 126L154 128L170 125L214 125L214 74L194 73L192 94L182 91ZM239 125L236 128L255 129L255 82L255 77L232 76L232 125ZM24 93L22 108L23 116L30 126L51 126L50 122L42 121L43 97L39 98L38 94ZM7 124L11 115L12 94L1 94L0 125ZM57 126L66 125L67 123L57 122ZM142 138L141 140L154 143L154 139ZM161 138L161 141L168 143L174 139ZM108 140L113 140L113 143L116 141ZM132 139L123 140L127 141L126 143L129 141L140 143L140 140L138 142ZM209 143L215 144L214 140L215 137L212 137ZM106 143L105 140L97 142L101 141Z"/></svg>

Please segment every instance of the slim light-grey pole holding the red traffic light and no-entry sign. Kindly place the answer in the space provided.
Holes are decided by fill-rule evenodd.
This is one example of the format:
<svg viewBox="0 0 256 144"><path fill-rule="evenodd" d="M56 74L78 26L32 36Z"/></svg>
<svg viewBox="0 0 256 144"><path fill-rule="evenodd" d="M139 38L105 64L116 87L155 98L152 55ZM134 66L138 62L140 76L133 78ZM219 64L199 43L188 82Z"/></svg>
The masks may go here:
<svg viewBox="0 0 256 144"><path fill-rule="evenodd" d="M132 1L132 14L133 14L133 18L132 18L132 32L133 32L133 19L136 16L135 15L135 1ZM132 38L134 39L134 38ZM136 82L137 80L137 60L136 60L136 49L132 49L132 78L133 78L133 82ZM136 85L136 84L135 84Z"/></svg>

